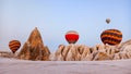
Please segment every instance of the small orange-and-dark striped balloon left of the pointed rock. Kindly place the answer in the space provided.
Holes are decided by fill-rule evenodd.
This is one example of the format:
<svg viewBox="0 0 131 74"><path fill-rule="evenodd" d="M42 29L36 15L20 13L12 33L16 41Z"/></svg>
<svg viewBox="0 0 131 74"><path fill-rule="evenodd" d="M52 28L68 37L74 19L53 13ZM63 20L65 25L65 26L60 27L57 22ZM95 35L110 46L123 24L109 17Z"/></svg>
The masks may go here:
<svg viewBox="0 0 131 74"><path fill-rule="evenodd" d="M11 40L9 42L9 48L11 49L11 51L13 53L15 53L15 51L21 47L21 42L19 40Z"/></svg>

